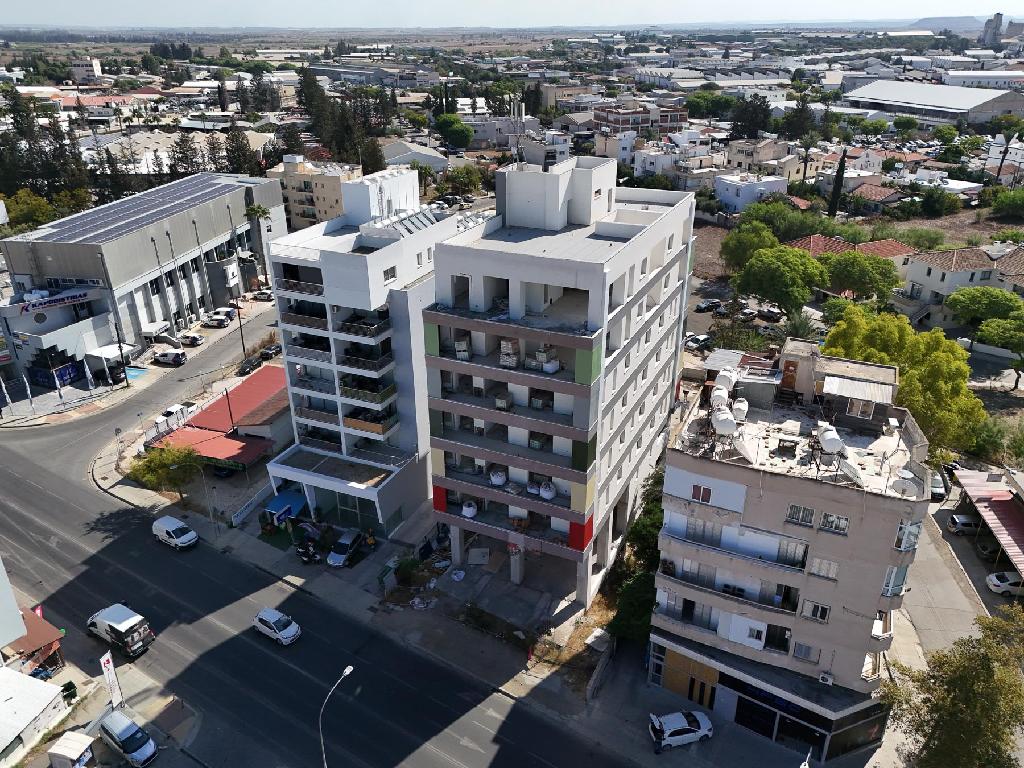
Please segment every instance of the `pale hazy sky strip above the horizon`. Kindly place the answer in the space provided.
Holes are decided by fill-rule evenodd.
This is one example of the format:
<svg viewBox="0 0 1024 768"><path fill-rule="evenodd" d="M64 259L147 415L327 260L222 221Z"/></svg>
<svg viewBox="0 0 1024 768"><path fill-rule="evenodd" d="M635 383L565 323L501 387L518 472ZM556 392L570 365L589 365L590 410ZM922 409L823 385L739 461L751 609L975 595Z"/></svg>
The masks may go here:
<svg viewBox="0 0 1024 768"><path fill-rule="evenodd" d="M785 0L729 3L637 0L3 0L0 24L156 27L542 27L694 22L920 18L990 15L962 0L859 0L814 4ZM1005 11L1009 11L1006 8ZM843 15L841 15L843 14Z"/></svg>

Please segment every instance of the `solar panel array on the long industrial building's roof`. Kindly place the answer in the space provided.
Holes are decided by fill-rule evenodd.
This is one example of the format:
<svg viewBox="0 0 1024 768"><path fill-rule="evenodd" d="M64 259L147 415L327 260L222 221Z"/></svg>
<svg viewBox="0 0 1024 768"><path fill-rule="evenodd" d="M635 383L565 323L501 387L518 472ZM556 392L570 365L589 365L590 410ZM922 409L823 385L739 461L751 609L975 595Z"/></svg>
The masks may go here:
<svg viewBox="0 0 1024 768"><path fill-rule="evenodd" d="M27 239L45 243L110 243L237 188L216 174L198 173L54 221L41 233Z"/></svg>

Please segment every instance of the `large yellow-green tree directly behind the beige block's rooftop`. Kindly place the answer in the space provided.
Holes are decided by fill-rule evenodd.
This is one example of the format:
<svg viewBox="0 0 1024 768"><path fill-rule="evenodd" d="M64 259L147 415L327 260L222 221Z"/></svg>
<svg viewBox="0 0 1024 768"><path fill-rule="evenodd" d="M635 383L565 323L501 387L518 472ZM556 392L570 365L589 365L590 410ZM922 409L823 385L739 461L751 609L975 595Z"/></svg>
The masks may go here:
<svg viewBox="0 0 1024 768"><path fill-rule="evenodd" d="M968 388L967 350L941 330L919 333L903 315L870 315L859 306L850 306L825 339L824 351L897 366L896 404L913 414L932 447L971 450L985 410Z"/></svg>

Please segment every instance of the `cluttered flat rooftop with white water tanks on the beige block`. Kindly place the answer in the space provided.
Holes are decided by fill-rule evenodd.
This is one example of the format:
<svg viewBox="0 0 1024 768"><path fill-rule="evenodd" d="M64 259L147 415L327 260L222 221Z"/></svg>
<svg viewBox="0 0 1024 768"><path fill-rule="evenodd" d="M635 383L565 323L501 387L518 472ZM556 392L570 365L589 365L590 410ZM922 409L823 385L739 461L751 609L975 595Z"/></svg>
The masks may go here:
<svg viewBox="0 0 1024 768"><path fill-rule="evenodd" d="M674 436L673 446L690 456L764 472L859 487L899 499L925 497L927 472L916 462L912 466L918 467L920 475L913 479L913 487L906 493L898 489L900 472L911 466L910 451L900 429L892 434L872 434L837 426L846 445L844 462L849 469L844 469L837 457L820 451L816 433L822 417L816 408L776 403L764 411L752 407L733 437L717 435L710 417L710 408L694 404Z"/></svg>

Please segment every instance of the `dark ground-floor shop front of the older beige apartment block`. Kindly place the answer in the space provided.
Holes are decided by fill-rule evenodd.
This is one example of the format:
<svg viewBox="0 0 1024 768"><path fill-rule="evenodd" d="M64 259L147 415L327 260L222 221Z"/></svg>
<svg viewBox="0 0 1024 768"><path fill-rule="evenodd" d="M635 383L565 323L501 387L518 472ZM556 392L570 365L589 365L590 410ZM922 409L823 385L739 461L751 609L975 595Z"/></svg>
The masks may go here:
<svg viewBox="0 0 1024 768"><path fill-rule="evenodd" d="M805 756L810 753L815 761L882 740L889 713L877 698L809 678L797 680L801 676L784 670L768 668L770 675L759 675L752 666L767 667L667 633L651 633L648 680L729 722ZM790 676L794 680L787 681ZM808 686L821 690L812 697L794 692Z"/></svg>

